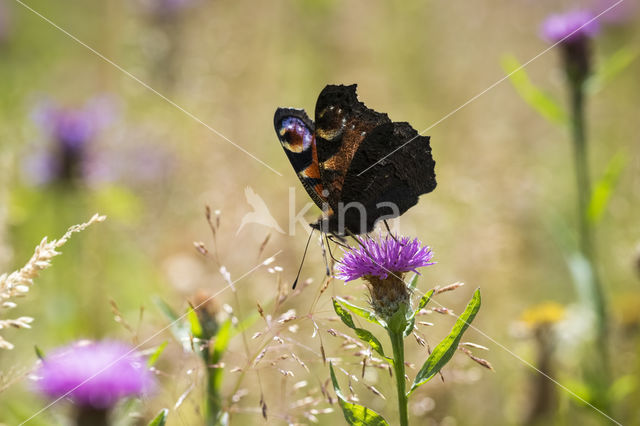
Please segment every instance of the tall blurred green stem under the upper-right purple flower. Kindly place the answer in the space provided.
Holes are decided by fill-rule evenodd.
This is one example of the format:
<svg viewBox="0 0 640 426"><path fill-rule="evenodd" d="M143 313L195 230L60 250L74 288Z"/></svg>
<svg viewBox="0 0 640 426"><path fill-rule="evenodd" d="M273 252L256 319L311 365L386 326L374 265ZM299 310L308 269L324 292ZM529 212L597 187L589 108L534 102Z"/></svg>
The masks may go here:
<svg viewBox="0 0 640 426"><path fill-rule="evenodd" d="M576 184L578 191L578 225L580 252L590 268L589 293L590 303L597 318L597 342L600 357L599 368L602 378L608 383L609 360L607 354L608 317L605 294L596 265L596 251L593 236L593 225L589 220L589 203L591 201L591 181L589 179L589 163L587 139L584 122L584 84L582 81L571 82L572 137L575 157Z"/></svg>

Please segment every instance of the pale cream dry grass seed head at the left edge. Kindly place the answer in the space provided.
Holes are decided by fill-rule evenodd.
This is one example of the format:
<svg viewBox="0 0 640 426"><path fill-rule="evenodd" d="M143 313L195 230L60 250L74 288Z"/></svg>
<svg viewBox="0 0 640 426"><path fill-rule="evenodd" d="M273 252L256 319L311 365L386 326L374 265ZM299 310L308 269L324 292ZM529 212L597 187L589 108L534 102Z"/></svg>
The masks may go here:
<svg viewBox="0 0 640 426"><path fill-rule="evenodd" d="M92 224L102 222L105 219L105 216L100 216L96 213L88 222L69 228L62 238L58 240L47 241L47 237L44 237L40 244L36 246L33 256L31 256L26 265L10 274L0 275L0 309L16 307L16 303L12 299L26 296L33 284L33 279L38 276L40 271L51 266L51 259L61 254L57 249L65 245L73 234L82 232ZM0 329L9 327L30 328L31 322L33 322L31 317L3 319L0 320ZM13 349L13 347L13 344L0 337L0 349Z"/></svg>

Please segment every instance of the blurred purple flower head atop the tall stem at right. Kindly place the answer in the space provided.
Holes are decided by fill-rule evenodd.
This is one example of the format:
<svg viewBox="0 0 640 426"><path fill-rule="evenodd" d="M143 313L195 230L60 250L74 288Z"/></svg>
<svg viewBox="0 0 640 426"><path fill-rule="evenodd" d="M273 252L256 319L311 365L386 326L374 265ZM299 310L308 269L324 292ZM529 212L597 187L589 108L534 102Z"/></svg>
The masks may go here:
<svg viewBox="0 0 640 426"><path fill-rule="evenodd" d="M542 37L550 43L576 42L590 38L600 31L600 22L589 10L573 10L549 16L542 23Z"/></svg>

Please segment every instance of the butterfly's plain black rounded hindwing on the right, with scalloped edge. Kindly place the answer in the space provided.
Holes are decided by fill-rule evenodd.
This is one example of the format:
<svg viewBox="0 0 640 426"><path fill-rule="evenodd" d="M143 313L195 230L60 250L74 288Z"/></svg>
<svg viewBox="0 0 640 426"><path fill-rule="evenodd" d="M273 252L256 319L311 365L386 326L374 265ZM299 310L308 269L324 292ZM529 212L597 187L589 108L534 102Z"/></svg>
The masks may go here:
<svg viewBox="0 0 640 426"><path fill-rule="evenodd" d="M344 224L355 234L370 232L377 220L402 215L435 187L429 137L409 123L379 126L360 144L344 179L342 203L363 206L345 210Z"/></svg>

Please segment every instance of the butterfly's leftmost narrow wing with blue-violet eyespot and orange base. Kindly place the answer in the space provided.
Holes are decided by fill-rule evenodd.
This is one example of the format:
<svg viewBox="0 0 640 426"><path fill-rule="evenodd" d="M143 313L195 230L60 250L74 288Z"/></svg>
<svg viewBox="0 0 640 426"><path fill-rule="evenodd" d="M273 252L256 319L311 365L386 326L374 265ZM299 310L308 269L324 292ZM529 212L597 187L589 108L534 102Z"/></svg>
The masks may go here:
<svg viewBox="0 0 640 426"><path fill-rule="evenodd" d="M327 202L318 168L313 121L302 109L278 108L273 124L284 152L316 205Z"/></svg>

